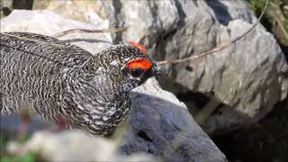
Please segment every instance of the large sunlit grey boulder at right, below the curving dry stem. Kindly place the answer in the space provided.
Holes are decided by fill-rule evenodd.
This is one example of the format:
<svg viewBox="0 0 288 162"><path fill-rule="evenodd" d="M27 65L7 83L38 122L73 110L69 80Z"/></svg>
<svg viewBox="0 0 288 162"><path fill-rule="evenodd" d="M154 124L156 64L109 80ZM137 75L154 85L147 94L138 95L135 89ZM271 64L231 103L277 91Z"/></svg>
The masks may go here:
<svg viewBox="0 0 288 162"><path fill-rule="evenodd" d="M229 23L231 38L251 27L241 20ZM203 80L214 83L199 85L202 92L215 92L225 104L219 113L212 115L202 126L208 132L235 130L266 116L275 103L287 97L288 67L284 54L274 37L259 28L243 41L223 54L207 60ZM218 58L219 57L219 58ZM217 59L228 59L211 66ZM214 70L221 69L221 72ZM233 108L233 109L231 109Z"/></svg>

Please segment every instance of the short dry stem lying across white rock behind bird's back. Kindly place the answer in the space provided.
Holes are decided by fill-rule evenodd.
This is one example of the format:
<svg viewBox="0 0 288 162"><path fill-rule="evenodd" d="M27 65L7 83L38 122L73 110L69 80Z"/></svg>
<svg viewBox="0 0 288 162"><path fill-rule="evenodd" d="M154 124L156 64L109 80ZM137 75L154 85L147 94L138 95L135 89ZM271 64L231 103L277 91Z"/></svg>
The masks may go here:
<svg viewBox="0 0 288 162"><path fill-rule="evenodd" d="M67 35L67 34L74 33L74 32L88 32L88 33L94 33L94 32L123 32L123 31L127 31L127 29L128 29L128 27L102 29L102 30L72 29L72 30L58 32L57 34L53 35L53 37L59 38L59 37L63 37L65 35Z"/></svg>

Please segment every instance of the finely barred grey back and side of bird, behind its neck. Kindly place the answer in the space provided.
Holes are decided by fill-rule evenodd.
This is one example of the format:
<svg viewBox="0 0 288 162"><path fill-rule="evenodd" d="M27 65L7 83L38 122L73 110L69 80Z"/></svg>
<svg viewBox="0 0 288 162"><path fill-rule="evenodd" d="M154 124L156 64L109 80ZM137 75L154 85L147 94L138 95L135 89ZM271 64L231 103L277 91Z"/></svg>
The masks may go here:
<svg viewBox="0 0 288 162"><path fill-rule="evenodd" d="M92 55L49 36L25 32L0 35L1 113L23 108L55 119L65 70L81 67Z"/></svg>

